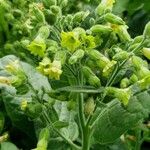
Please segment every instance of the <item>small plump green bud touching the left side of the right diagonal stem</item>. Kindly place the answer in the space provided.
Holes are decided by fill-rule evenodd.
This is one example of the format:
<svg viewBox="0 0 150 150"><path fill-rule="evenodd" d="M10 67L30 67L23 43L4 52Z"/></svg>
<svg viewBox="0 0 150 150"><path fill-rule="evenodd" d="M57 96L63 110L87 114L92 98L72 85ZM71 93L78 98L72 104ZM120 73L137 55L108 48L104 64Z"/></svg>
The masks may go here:
<svg viewBox="0 0 150 150"><path fill-rule="evenodd" d="M129 57L130 53L128 53L127 51L121 51L117 54L115 54L113 56L113 60L116 60L116 61L123 61L125 59L127 59Z"/></svg>

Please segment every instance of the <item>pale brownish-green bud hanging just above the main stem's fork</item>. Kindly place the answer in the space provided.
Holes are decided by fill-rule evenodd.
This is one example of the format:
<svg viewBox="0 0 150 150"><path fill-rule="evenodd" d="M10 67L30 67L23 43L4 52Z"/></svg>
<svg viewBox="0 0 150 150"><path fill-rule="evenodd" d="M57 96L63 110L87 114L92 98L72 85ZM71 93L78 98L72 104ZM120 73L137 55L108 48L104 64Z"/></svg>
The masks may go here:
<svg viewBox="0 0 150 150"><path fill-rule="evenodd" d="M84 112L85 114L92 115L95 109L95 103L93 97L89 97L84 105Z"/></svg>

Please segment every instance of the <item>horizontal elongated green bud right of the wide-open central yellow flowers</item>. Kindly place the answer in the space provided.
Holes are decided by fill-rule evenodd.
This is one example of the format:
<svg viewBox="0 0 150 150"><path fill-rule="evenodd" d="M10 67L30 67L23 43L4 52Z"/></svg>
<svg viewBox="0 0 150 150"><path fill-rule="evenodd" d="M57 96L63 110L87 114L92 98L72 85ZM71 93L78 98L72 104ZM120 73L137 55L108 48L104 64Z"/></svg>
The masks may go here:
<svg viewBox="0 0 150 150"><path fill-rule="evenodd" d="M94 25L90 28L91 32L93 34L106 34L106 33L110 33L112 31L112 29L108 26L105 25Z"/></svg>

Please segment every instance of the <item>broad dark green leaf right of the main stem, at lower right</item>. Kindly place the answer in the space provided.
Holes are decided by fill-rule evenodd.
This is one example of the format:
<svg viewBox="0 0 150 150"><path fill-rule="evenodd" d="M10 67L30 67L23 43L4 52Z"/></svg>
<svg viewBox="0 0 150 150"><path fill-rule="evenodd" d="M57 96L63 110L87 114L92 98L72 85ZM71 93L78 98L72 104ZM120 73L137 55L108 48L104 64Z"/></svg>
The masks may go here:
<svg viewBox="0 0 150 150"><path fill-rule="evenodd" d="M130 99L127 107L123 107L118 100L108 103L101 111L94 126L96 143L112 143L124 132L136 126L141 119L150 113L150 95L143 92Z"/></svg>

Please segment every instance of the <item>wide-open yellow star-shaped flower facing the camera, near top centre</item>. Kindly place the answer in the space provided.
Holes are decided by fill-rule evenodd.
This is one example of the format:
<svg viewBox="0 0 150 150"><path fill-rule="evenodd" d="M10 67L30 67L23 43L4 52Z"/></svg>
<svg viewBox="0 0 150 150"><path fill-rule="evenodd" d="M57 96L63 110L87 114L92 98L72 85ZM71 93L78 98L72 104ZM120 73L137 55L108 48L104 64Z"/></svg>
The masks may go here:
<svg viewBox="0 0 150 150"><path fill-rule="evenodd" d="M74 52L80 46L78 34L76 32L62 32L61 45L67 48L70 52Z"/></svg>

